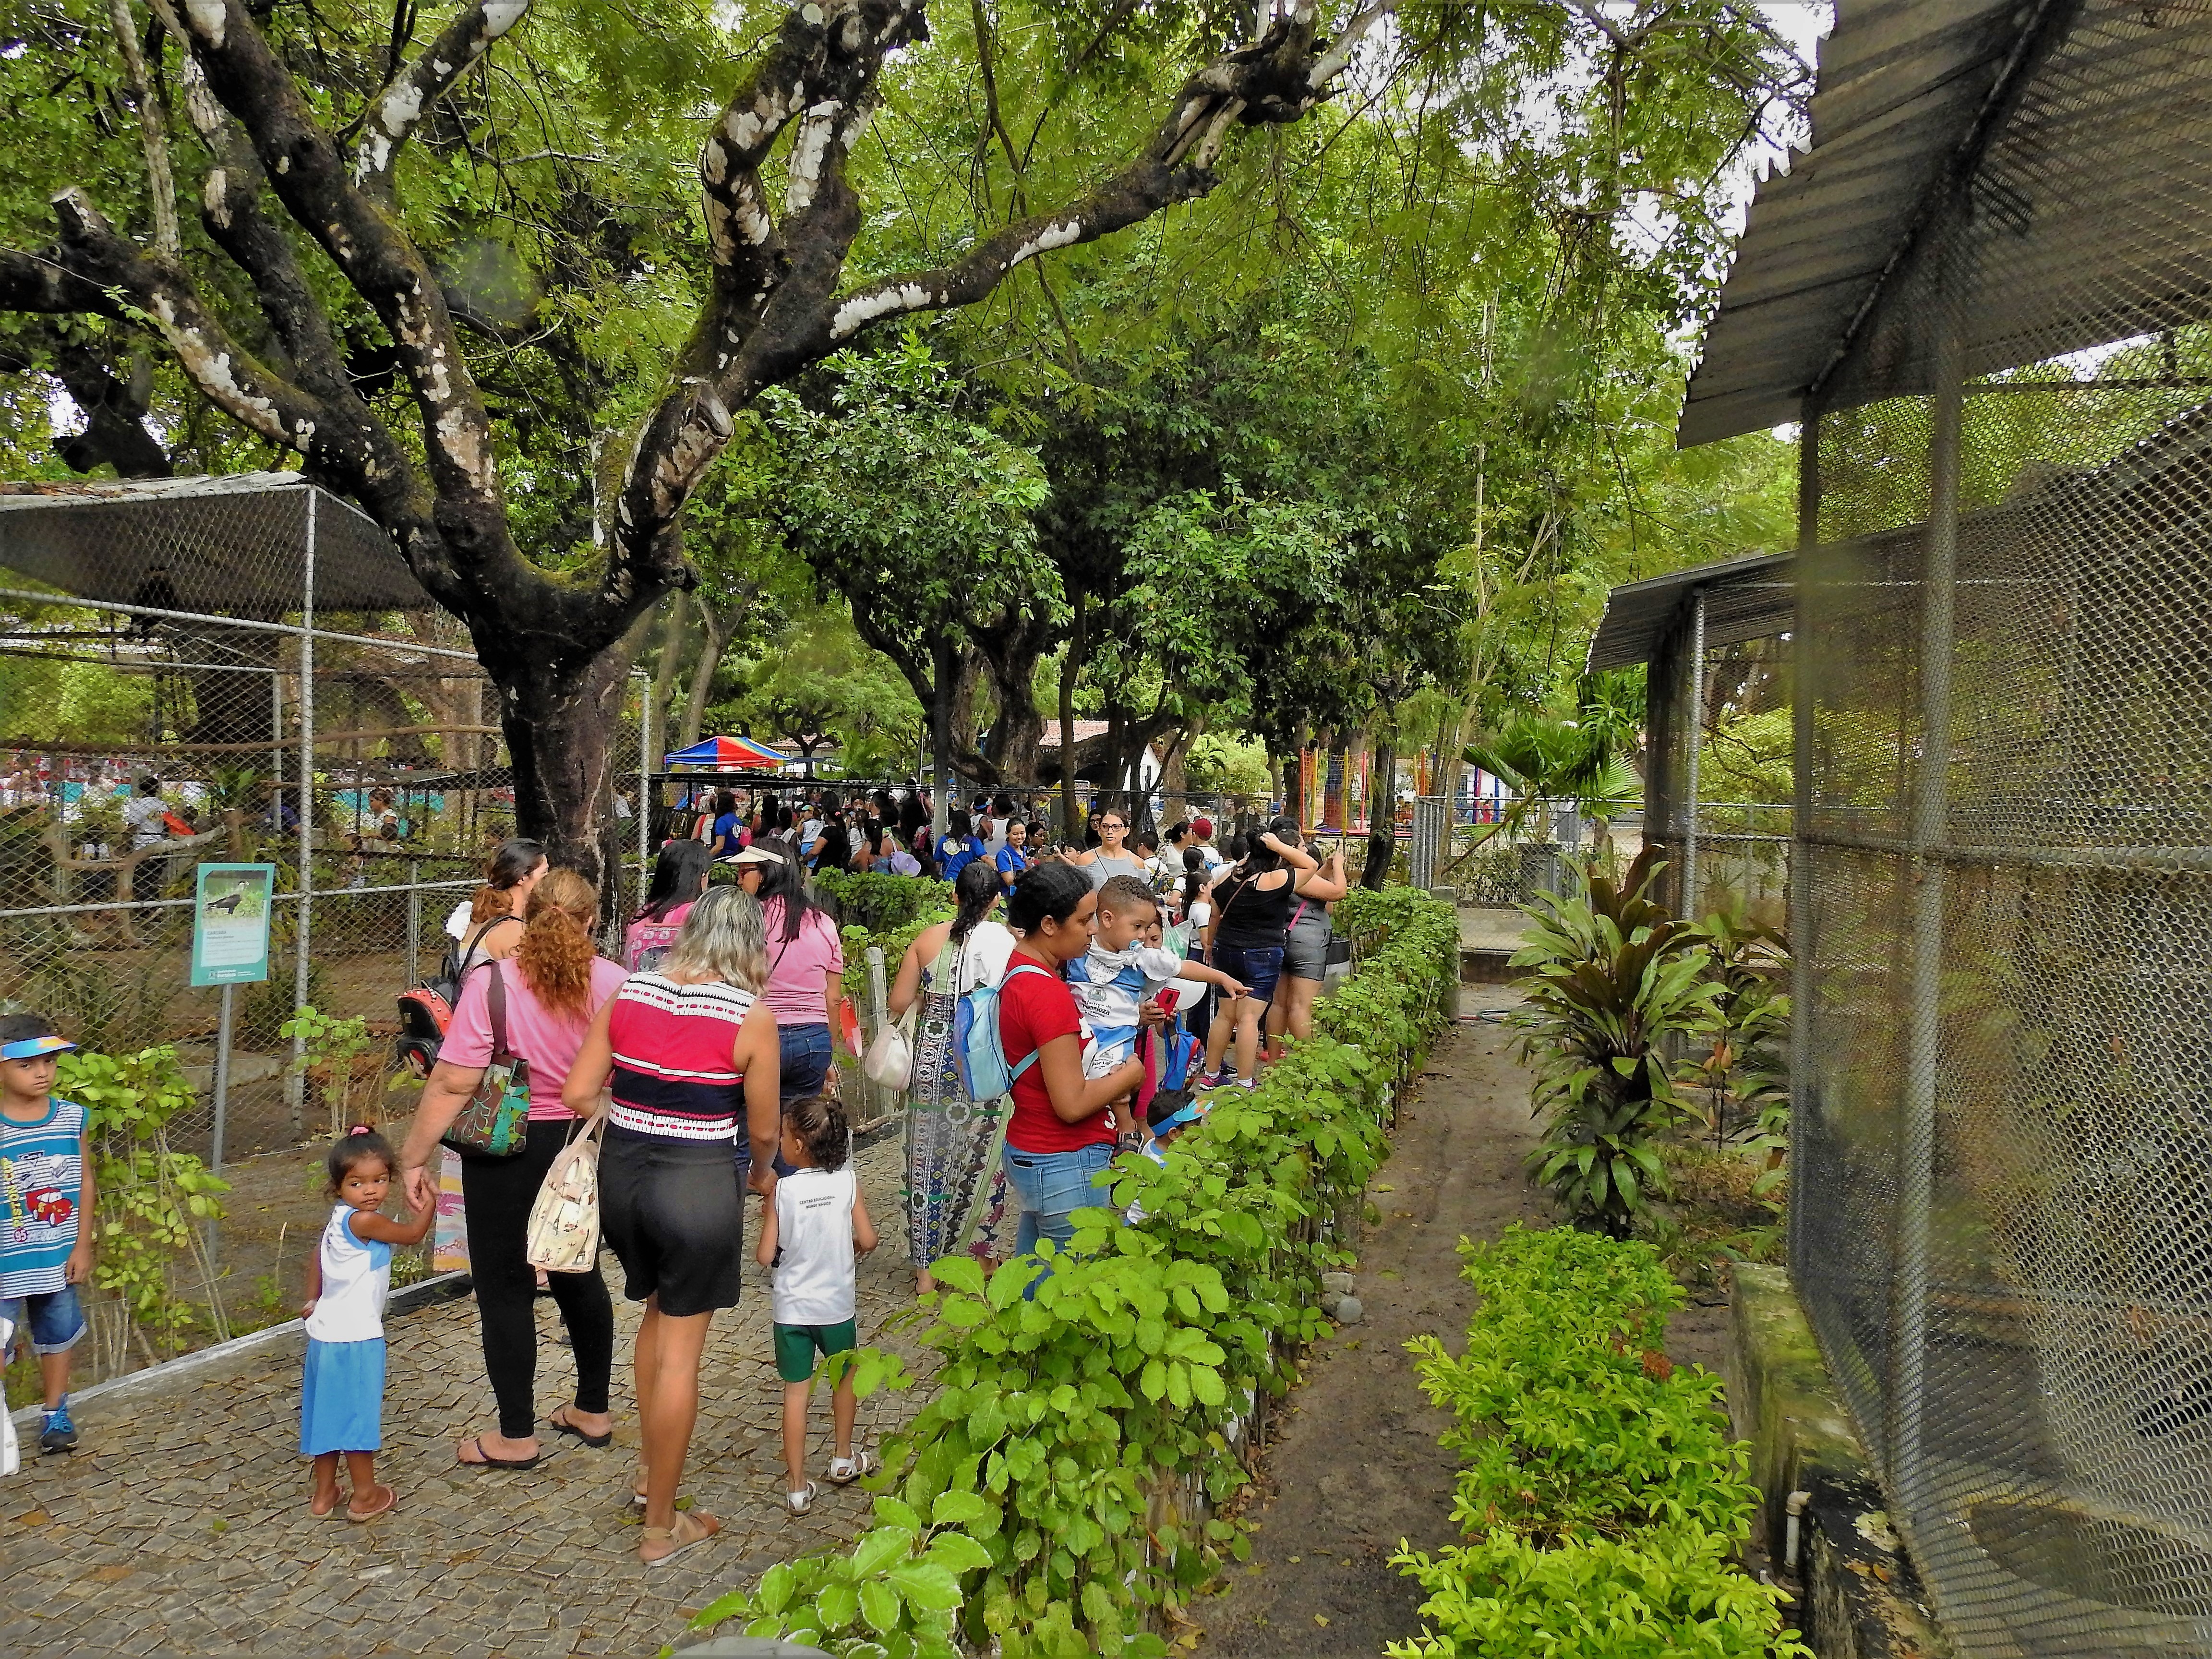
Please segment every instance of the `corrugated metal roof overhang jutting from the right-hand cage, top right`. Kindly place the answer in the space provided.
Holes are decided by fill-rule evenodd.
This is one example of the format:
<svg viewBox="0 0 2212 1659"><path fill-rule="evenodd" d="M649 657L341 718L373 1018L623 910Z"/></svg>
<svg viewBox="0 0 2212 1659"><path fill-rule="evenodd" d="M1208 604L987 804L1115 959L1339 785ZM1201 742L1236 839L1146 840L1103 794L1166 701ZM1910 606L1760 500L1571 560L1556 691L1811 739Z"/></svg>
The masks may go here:
<svg viewBox="0 0 2212 1659"><path fill-rule="evenodd" d="M1798 418L2033 18L2020 0L1838 0L1812 150L1752 199L1677 442Z"/></svg>

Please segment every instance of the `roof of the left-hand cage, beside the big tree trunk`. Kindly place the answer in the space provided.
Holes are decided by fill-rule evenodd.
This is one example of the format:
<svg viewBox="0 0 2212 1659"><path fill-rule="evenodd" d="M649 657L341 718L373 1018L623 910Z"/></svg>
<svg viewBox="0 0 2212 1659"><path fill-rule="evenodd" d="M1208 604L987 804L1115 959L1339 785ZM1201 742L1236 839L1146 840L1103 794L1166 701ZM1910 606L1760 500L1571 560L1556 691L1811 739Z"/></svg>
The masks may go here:
<svg viewBox="0 0 2212 1659"><path fill-rule="evenodd" d="M0 484L0 571L84 599L274 622L301 608L310 491L316 611L429 608L392 538L301 473Z"/></svg>

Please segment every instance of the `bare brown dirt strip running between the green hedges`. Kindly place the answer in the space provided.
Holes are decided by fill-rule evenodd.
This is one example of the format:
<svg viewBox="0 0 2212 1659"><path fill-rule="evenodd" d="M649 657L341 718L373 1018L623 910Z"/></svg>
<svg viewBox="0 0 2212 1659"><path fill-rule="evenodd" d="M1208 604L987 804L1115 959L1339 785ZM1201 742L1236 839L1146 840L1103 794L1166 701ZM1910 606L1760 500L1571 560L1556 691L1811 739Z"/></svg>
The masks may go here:
<svg viewBox="0 0 2212 1659"><path fill-rule="evenodd" d="M1469 984L1460 1006L1495 1013L1515 1000L1504 987ZM1252 1559L1192 1608L1201 1655L1374 1659L1420 1628L1420 1590L1389 1557L1400 1540L1425 1551L1455 1542L1455 1464L1438 1447L1449 1416L1420 1394L1405 1343L1433 1332L1451 1352L1464 1345L1462 1237L1551 1219L1522 1172L1535 1124L1506 1037L1480 1018L1455 1026L1398 1117L1391 1157L1369 1186L1380 1221L1360 1248L1360 1323L1307 1358L1267 1449ZM1692 1303L1668 1332L1677 1363L1721 1369L1725 1345L1723 1301Z"/></svg>

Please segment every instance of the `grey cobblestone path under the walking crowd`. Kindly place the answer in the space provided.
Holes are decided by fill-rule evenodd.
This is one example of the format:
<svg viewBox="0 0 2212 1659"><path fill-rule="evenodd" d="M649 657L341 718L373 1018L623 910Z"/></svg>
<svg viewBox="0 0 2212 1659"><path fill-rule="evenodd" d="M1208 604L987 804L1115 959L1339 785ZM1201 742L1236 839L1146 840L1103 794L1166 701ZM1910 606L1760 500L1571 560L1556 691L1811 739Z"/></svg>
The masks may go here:
<svg viewBox="0 0 2212 1659"><path fill-rule="evenodd" d="M860 1267L860 1340L909 1307L914 1279L898 1225L896 1133L860 1152L883 1248ZM748 1230L759 1206L748 1206ZM303 1338L186 1374L161 1391L82 1407L82 1449L24 1460L0 1482L0 1655L626 1655L644 1659L686 1615L761 1571L849 1537L867 1517L858 1489L823 1486L814 1513L783 1509L781 1385L768 1338L765 1276L748 1263L745 1301L717 1318L684 1489L723 1522L717 1542L646 1573L628 1493L637 1451L630 1336L617 1301L615 1444L591 1451L540 1433L526 1473L473 1471L453 1442L493 1422L476 1303L445 1303L389 1325L385 1453L398 1486L389 1515L352 1526L307 1513L299 1444ZM575 1369L551 1301L540 1301L540 1420ZM916 1363L911 1340L883 1347ZM830 1458L827 1398L814 1413ZM891 1433L925 1387L860 1402L863 1440ZM35 1433L35 1431L33 1431Z"/></svg>

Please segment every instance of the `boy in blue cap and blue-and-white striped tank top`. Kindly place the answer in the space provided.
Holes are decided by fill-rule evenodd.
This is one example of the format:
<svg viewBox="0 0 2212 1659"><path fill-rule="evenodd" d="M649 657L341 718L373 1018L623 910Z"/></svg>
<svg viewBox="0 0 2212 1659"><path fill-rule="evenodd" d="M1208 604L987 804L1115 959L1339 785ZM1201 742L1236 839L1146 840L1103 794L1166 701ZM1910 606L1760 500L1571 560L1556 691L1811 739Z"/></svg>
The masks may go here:
<svg viewBox="0 0 2212 1659"><path fill-rule="evenodd" d="M0 1316L31 1332L46 1418L42 1451L75 1451L69 1352L93 1272L93 1148L86 1113L53 1097L55 1055L77 1044L35 1013L0 1015ZM4 1363L0 1354L0 1363Z"/></svg>

